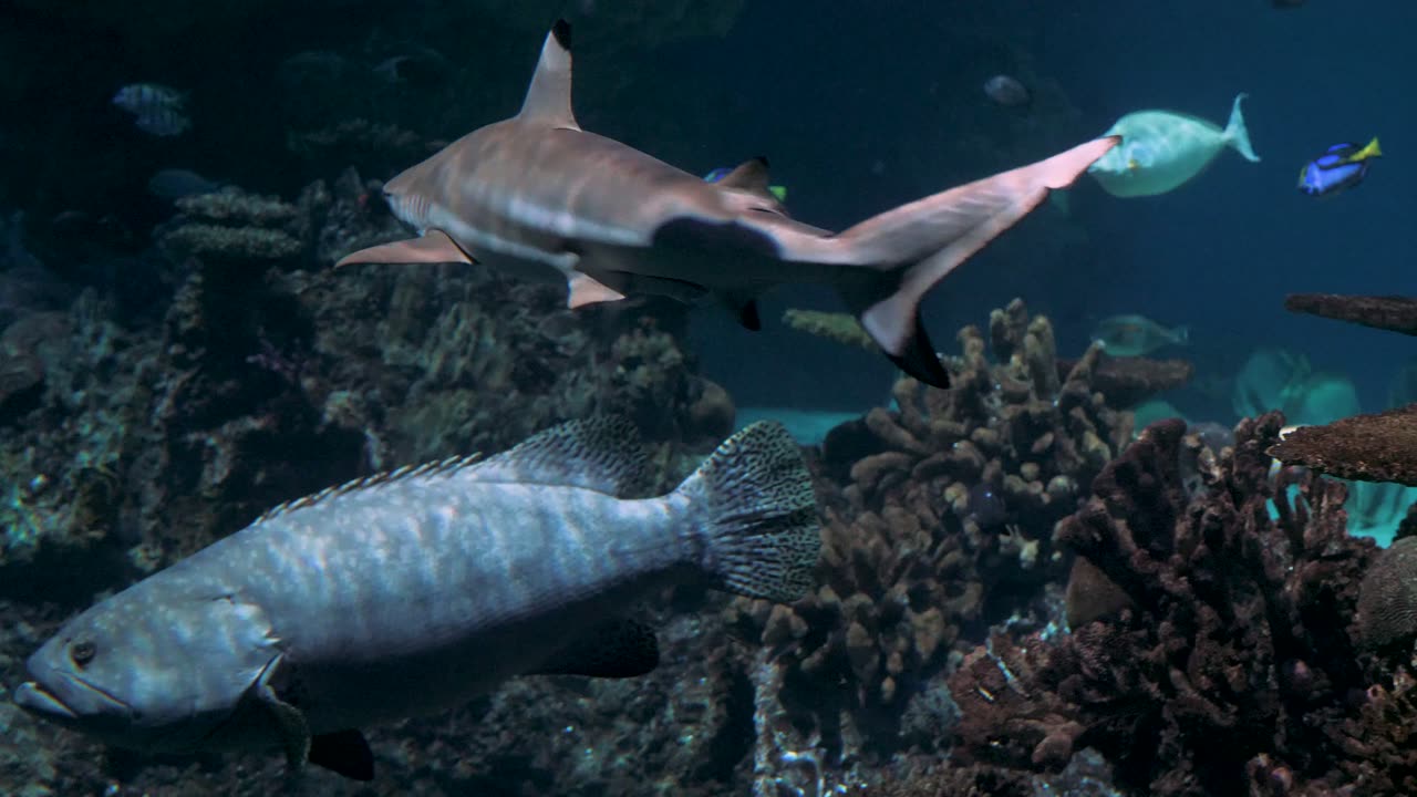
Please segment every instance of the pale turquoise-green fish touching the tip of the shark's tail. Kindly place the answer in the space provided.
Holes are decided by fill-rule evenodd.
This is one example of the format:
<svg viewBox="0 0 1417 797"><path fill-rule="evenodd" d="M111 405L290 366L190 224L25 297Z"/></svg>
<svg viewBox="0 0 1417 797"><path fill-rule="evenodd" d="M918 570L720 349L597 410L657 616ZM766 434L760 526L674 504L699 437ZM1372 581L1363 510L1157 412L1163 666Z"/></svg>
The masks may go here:
<svg viewBox="0 0 1417 797"><path fill-rule="evenodd" d="M1087 173L1112 196L1148 197L1178 189L1200 174L1227 146L1257 163L1260 156L1250 146L1250 133L1240 113L1240 101L1246 96L1236 95L1230 123L1223 130L1189 113L1128 113L1107 130L1110 136L1122 136L1121 146L1098 157Z"/></svg>

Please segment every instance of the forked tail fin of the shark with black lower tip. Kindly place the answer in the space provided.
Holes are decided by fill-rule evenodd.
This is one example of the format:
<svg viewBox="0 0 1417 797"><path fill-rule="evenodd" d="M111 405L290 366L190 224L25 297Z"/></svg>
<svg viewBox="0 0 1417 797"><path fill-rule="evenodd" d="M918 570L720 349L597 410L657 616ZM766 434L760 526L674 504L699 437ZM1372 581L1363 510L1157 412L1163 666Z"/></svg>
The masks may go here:
<svg viewBox="0 0 1417 797"><path fill-rule="evenodd" d="M920 301L956 265L1039 206L1050 189L1073 184L1121 142L1105 136L1047 160L925 197L862 221L837 235L850 262L839 285L862 326L910 376L948 387Z"/></svg>

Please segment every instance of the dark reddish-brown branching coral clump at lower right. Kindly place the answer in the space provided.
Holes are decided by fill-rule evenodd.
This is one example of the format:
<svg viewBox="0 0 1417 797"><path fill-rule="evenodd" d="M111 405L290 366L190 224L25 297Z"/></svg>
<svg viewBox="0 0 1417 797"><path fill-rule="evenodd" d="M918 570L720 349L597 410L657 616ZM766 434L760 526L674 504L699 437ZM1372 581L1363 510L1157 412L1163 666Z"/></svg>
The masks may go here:
<svg viewBox="0 0 1417 797"><path fill-rule="evenodd" d="M1366 685L1355 614L1374 546L1346 535L1343 485L1294 471L1270 481L1264 450L1282 423L1243 421L1233 450L1199 458L1195 492L1180 457L1199 441L1176 420L1148 427L1057 529L1131 606L1051 642L995 638L1000 659L1040 662L1017 681L1033 699L962 706L965 722L971 708L992 728L1047 706L1138 793L1336 793L1350 695ZM989 688L983 675L961 669L951 689ZM961 754L999 753L988 737L961 740ZM1066 752L1060 740L1053 760ZM1033 750L1005 753L1016 767L1044 764Z"/></svg>

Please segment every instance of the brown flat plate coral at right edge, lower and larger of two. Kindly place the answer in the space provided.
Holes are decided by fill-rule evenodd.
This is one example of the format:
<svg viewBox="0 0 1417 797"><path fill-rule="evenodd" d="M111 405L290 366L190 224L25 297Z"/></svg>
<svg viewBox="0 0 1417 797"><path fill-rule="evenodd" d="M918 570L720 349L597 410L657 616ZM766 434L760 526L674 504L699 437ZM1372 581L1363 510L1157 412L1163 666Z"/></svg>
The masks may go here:
<svg viewBox="0 0 1417 797"><path fill-rule="evenodd" d="M1268 452L1287 465L1343 479L1417 486L1417 404L1301 427Z"/></svg>

